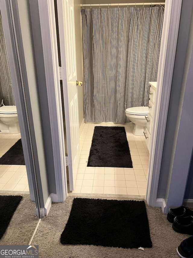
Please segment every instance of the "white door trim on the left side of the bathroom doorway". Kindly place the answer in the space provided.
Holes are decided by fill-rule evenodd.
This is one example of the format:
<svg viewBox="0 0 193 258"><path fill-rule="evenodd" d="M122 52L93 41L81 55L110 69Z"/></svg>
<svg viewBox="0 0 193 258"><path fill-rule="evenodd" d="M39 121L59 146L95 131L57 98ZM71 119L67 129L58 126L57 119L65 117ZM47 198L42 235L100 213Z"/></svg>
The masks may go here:
<svg viewBox="0 0 193 258"><path fill-rule="evenodd" d="M54 1L38 0L38 6L56 181L52 201L64 202L68 193Z"/></svg>

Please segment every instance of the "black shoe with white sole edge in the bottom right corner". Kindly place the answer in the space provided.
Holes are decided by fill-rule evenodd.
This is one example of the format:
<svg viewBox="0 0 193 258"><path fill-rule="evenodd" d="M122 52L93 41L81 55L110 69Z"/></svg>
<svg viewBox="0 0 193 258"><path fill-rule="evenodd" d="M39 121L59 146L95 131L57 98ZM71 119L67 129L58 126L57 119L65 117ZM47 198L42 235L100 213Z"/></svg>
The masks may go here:
<svg viewBox="0 0 193 258"><path fill-rule="evenodd" d="M193 258L193 236L181 242L177 248L177 253L182 258Z"/></svg>

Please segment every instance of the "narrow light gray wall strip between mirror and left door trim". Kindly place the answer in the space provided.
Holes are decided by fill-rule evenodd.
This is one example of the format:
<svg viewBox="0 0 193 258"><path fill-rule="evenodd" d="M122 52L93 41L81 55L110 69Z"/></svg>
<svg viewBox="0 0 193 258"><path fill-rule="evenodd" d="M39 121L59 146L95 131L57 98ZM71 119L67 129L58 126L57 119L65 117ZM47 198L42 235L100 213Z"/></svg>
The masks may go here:
<svg viewBox="0 0 193 258"><path fill-rule="evenodd" d="M41 85L38 84L36 70L36 57L34 53L33 34L30 20L30 6L28 0L12 0L12 2L29 118L37 187L40 197L40 207L44 207L49 197L50 189L45 157L44 132L42 129L43 119L39 99L39 87L41 87ZM34 13L33 19L38 18L39 17ZM39 40L41 43L41 38L39 38ZM48 114L45 114L45 116L46 115Z"/></svg>

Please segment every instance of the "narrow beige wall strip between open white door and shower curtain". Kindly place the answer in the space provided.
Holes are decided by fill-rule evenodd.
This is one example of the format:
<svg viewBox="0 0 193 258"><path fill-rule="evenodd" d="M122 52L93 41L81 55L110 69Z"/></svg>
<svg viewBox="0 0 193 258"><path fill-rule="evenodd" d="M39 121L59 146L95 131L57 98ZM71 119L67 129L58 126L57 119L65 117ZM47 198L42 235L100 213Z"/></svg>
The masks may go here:
<svg viewBox="0 0 193 258"><path fill-rule="evenodd" d="M77 80L83 80L83 51L82 51L82 21L81 21L81 7L80 4L84 4L84 0L74 0L74 25L75 25L75 41L76 41L76 71ZM79 115L79 127L84 119L83 111L83 86L77 86L78 88L78 115Z"/></svg>

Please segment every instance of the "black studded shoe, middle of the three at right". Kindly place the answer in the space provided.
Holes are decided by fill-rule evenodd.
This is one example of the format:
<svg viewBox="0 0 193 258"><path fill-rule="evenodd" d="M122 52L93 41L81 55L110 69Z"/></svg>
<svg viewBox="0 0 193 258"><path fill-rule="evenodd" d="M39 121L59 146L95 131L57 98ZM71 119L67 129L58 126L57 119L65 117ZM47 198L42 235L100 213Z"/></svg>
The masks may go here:
<svg viewBox="0 0 193 258"><path fill-rule="evenodd" d="M172 228L178 233L193 235L193 216L175 217Z"/></svg>

